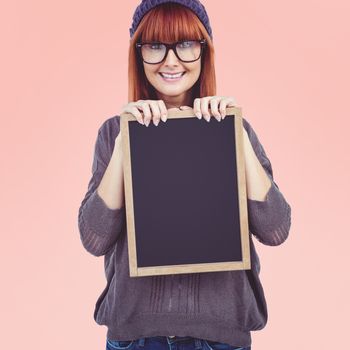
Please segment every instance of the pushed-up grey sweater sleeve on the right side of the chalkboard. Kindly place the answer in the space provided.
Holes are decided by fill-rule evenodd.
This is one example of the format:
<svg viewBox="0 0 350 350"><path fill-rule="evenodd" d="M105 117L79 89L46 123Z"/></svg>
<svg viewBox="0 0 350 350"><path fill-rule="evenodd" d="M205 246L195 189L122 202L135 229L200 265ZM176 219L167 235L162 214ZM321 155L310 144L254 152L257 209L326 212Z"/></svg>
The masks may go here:
<svg viewBox="0 0 350 350"><path fill-rule="evenodd" d="M274 181L272 166L251 125L243 118L255 154L271 180L271 187L264 201L249 199L249 231L261 243L269 246L282 244L288 237L291 226L291 207Z"/></svg>

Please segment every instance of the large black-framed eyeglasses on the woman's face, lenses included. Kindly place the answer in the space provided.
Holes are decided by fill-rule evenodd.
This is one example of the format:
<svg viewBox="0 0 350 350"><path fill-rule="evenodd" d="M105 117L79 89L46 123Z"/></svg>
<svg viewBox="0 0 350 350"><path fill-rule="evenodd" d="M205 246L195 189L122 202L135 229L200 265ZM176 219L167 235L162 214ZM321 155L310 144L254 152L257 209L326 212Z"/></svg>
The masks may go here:
<svg viewBox="0 0 350 350"><path fill-rule="evenodd" d="M170 49L182 62L197 61L203 52L206 40L182 40L172 44L161 42L136 43L137 52L145 63L158 64L164 61Z"/></svg>

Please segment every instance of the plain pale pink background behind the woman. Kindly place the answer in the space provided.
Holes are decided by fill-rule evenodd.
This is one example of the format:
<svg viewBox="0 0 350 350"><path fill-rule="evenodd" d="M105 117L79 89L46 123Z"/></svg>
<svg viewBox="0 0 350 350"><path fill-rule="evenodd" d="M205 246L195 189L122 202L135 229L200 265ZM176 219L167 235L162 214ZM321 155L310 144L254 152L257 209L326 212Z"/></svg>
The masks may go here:
<svg viewBox="0 0 350 350"><path fill-rule="evenodd" d="M103 258L77 216L101 123L127 102L139 1L11 1L1 35L3 349L104 349ZM233 96L292 207L261 259L269 319L252 349L345 348L349 326L347 0L203 0L218 95Z"/></svg>

